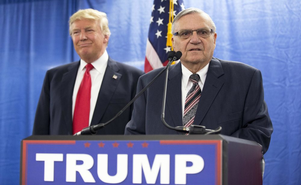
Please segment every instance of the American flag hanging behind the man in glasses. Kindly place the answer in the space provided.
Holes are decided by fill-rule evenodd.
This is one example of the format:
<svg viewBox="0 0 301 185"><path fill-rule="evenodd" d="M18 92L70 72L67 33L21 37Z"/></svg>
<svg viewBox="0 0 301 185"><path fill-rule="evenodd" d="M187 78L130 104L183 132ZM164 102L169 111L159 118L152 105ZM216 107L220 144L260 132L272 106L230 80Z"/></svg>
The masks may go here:
<svg viewBox="0 0 301 185"><path fill-rule="evenodd" d="M174 17L185 9L183 0L154 0L146 43L144 63L146 73L168 63L167 53L172 50L171 37L167 38L170 5L173 5ZM167 40L170 43L166 44Z"/></svg>

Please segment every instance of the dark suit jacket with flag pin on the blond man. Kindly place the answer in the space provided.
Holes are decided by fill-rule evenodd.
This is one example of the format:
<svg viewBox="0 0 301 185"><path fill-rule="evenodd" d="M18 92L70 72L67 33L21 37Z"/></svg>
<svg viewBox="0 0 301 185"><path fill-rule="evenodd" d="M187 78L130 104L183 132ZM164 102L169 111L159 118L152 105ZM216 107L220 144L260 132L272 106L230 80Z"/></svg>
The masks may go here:
<svg viewBox="0 0 301 185"><path fill-rule="evenodd" d="M72 134L72 95L80 62L62 65L47 71L36 110L33 135ZM117 79L112 78L113 75ZM105 123L135 97L138 78L144 74L132 66L108 60L99 90L91 125ZM124 134L133 107L98 134Z"/></svg>

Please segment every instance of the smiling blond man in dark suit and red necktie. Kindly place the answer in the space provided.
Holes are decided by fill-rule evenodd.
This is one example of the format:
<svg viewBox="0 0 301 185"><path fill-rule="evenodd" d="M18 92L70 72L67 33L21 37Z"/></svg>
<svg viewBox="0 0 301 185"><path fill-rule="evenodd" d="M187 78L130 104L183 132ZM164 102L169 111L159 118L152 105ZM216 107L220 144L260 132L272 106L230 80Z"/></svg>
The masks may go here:
<svg viewBox="0 0 301 185"><path fill-rule="evenodd" d="M134 98L138 78L144 74L108 56L110 30L105 13L79 10L70 17L69 31L81 59L47 71L33 135L71 135L105 123ZM98 134L123 134L132 110L126 109Z"/></svg>

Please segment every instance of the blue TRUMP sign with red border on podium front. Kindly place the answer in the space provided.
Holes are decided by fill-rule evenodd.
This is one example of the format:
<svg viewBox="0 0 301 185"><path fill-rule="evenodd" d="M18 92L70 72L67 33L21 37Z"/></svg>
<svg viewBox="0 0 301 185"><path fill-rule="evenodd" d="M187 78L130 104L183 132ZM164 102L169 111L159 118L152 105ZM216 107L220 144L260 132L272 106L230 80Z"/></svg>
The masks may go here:
<svg viewBox="0 0 301 185"><path fill-rule="evenodd" d="M220 139L23 140L21 153L22 185L222 184Z"/></svg>

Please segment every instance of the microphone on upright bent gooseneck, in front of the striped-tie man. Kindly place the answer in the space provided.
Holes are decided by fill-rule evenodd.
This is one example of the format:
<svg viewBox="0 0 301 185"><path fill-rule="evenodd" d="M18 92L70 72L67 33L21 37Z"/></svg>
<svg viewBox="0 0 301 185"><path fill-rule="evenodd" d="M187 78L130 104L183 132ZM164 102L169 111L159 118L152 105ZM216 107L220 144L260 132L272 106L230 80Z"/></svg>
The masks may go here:
<svg viewBox="0 0 301 185"><path fill-rule="evenodd" d="M168 60L170 59L170 61L175 61L180 59L182 56L182 53L180 51L177 51L175 53L175 56L170 59L168 58ZM167 89L167 78L168 78L168 69L170 66L171 62L169 62L166 65L166 74L165 74L165 81L164 81L164 92L163 92L163 102L162 102L162 114L161 114L161 120L163 122L163 124L172 130L175 130L177 132L184 132L184 133L189 133L189 134L204 134L204 135L208 135L208 134L213 134L213 133L220 133L220 131L222 130L222 127L218 127L215 130L211 130L211 129L206 129L205 126L200 126L200 125L190 125L189 127L184 127L184 126L176 126L176 127L172 127L169 124L166 123L165 121L165 103L166 103L166 89Z"/></svg>

